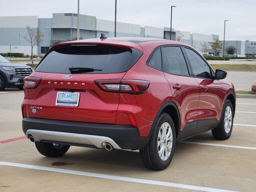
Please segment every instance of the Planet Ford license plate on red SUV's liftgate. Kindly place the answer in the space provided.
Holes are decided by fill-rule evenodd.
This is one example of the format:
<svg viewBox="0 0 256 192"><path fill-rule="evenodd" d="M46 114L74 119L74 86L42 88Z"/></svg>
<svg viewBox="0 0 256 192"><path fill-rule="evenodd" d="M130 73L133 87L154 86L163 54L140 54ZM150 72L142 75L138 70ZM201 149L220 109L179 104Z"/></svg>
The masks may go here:
<svg viewBox="0 0 256 192"><path fill-rule="evenodd" d="M58 92L56 105L77 107L79 103L80 93L77 92Z"/></svg>

